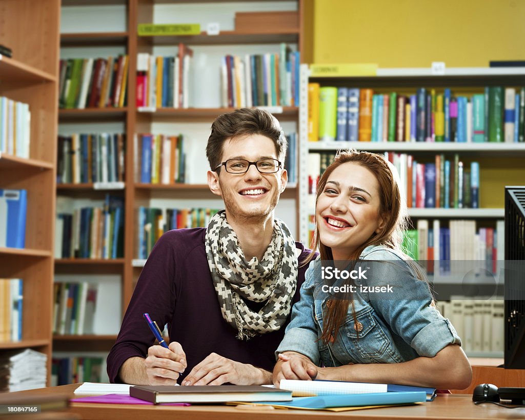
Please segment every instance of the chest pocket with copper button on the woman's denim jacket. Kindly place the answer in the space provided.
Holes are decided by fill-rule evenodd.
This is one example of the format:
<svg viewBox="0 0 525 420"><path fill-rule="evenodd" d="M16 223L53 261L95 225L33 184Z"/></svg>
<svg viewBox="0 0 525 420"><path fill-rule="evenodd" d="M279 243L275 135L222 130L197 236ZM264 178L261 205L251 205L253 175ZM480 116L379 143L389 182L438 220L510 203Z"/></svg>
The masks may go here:
<svg viewBox="0 0 525 420"><path fill-rule="evenodd" d="M346 351L356 361L371 362L371 359L381 358L390 345L390 338L376 322L371 309L357 313L356 318L354 322L350 312L341 329Z"/></svg>

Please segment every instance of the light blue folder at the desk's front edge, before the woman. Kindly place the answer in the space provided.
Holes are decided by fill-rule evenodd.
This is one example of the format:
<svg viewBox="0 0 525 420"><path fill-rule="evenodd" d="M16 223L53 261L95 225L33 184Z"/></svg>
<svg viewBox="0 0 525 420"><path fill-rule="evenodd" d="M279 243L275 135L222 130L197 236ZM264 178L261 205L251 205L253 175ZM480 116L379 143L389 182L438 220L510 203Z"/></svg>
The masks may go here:
<svg viewBox="0 0 525 420"><path fill-rule="evenodd" d="M368 405L412 404L426 402L424 391L377 392L371 394L344 394L316 397L292 397L289 402L261 402L276 407L325 409L335 407L359 407Z"/></svg>

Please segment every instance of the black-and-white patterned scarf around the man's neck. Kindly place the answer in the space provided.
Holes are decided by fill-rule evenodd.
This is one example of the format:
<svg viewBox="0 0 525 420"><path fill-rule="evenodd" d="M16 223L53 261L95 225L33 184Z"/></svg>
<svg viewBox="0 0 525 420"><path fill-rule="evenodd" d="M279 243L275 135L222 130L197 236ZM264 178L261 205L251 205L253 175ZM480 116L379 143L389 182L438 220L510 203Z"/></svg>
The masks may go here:
<svg viewBox="0 0 525 420"><path fill-rule="evenodd" d="M290 313L297 287L296 245L286 224L274 220L271 242L260 262L257 257L246 260L224 210L211 218L206 230L206 255L220 311L239 340L279 330ZM254 312L246 300L266 303Z"/></svg>

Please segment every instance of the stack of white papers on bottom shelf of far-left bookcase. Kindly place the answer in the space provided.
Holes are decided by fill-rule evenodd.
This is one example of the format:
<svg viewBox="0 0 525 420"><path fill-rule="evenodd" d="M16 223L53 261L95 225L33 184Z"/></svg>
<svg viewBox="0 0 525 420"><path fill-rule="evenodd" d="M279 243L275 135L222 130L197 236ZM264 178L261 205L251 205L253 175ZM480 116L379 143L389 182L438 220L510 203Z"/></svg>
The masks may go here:
<svg viewBox="0 0 525 420"><path fill-rule="evenodd" d="M0 391L33 390L46 386L47 356L35 350L3 352L0 356Z"/></svg>

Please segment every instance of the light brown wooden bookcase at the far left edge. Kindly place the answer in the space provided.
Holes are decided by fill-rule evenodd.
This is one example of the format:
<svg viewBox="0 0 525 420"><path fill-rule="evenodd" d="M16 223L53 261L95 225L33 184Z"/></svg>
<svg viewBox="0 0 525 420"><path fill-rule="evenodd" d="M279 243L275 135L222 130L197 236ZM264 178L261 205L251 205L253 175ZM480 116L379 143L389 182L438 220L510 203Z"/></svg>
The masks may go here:
<svg viewBox="0 0 525 420"><path fill-rule="evenodd" d="M0 277L23 280L22 340L0 342L0 355L44 353L49 384L60 2L3 0L0 10L0 44L13 51L0 55L0 96L31 113L29 157L0 152L0 188L27 190L25 248L0 248Z"/></svg>

